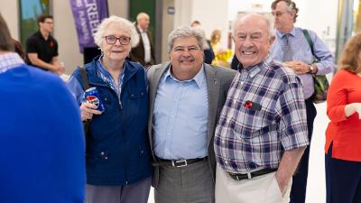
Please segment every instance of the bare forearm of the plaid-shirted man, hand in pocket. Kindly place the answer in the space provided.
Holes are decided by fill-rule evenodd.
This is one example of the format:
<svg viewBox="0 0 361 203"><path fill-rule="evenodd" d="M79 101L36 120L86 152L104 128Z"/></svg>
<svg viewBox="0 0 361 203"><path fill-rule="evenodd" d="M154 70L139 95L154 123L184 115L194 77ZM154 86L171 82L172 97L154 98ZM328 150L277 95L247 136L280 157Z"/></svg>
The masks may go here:
<svg viewBox="0 0 361 203"><path fill-rule="evenodd" d="M278 182L278 186L281 189L282 195L284 195L286 192L287 186L292 178L294 171L296 171L297 166L299 165L305 149L306 146L283 153L280 165L278 166L278 170L275 174L275 178Z"/></svg>

